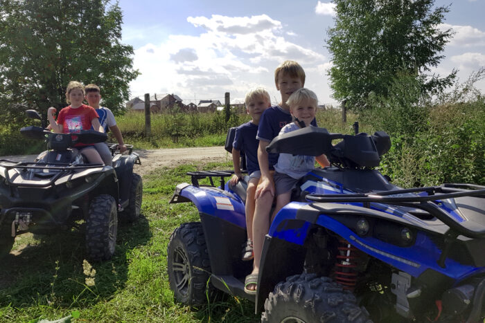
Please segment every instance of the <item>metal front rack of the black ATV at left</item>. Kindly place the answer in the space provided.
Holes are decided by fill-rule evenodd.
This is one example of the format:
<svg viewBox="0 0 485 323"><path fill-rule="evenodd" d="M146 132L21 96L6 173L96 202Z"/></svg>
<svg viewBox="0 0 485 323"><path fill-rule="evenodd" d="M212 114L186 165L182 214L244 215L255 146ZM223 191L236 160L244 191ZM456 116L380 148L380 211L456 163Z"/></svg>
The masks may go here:
<svg viewBox="0 0 485 323"><path fill-rule="evenodd" d="M6 164L9 163L9 164ZM73 165L73 164L65 164L59 163L55 164L55 166L47 165L44 163L24 163L24 162L12 162L12 160L0 159L0 167L3 167L5 170L3 171L3 177L6 180L6 183L10 186L22 186L22 187L48 187L53 185L55 181L60 178L60 176L67 174L69 172L74 172L78 169L89 169L89 168L98 168L104 167L102 164L89 164L89 165ZM51 170L59 170L57 174L54 174L51 178L48 178L48 182L44 183L13 183L10 180L10 176L8 175L8 171L12 168L16 169L51 169Z"/></svg>

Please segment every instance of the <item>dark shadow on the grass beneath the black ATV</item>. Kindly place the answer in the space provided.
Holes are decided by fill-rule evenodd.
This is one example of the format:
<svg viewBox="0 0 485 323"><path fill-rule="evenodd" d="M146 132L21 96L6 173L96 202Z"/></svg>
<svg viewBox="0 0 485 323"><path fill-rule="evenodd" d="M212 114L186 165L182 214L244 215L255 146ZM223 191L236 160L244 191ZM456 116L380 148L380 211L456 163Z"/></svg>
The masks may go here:
<svg viewBox="0 0 485 323"><path fill-rule="evenodd" d="M148 220L143 216L134 223L118 224L114 256L89 264L96 274L91 271L95 284L88 286L89 272L83 268L87 259L85 225L79 230L35 236L34 243L12 250L1 261L0 308L70 308L110 299L127 282L131 250L146 244L150 237Z"/></svg>

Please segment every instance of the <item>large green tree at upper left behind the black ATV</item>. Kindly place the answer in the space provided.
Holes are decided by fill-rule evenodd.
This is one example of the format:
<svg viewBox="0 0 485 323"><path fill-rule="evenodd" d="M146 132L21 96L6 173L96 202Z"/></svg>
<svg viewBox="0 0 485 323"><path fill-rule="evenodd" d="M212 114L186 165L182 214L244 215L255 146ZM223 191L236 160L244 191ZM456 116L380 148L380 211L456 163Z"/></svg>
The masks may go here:
<svg viewBox="0 0 485 323"><path fill-rule="evenodd" d="M123 15L108 0L0 0L0 111L65 107L71 80L95 83L116 111L129 96L132 46L121 44Z"/></svg>

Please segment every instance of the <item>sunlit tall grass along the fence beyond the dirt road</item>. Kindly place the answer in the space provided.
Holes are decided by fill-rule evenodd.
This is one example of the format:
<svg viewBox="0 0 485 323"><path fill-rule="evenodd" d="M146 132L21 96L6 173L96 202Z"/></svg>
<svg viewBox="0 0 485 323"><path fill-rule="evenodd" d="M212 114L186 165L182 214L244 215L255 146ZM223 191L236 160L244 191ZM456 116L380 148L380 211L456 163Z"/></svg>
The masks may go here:
<svg viewBox="0 0 485 323"><path fill-rule="evenodd" d="M342 123L340 110L317 111L319 127L330 132L351 133L352 124L357 119L353 113ZM211 147L224 145L227 129L236 127L251 120L247 113L231 111L229 120L225 121L222 111L213 113L152 113L150 119L150 136L145 135L145 114L128 111L116 117L118 127L127 144L136 149L160 149L176 147ZM39 125L37 120L26 120L26 124ZM45 149L39 140L30 140L20 135L21 124L0 125L0 156L13 154L37 154ZM108 133L109 141L116 141Z"/></svg>

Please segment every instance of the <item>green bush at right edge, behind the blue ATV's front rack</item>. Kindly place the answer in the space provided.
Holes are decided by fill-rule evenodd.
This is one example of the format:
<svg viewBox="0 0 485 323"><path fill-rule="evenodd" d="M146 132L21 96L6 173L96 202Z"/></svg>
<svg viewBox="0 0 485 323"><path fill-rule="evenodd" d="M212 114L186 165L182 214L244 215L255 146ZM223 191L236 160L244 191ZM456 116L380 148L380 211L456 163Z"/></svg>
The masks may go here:
<svg viewBox="0 0 485 323"><path fill-rule="evenodd" d="M485 102L471 89L467 82L432 102L400 77L388 98L369 101L360 118L391 136L381 167L396 185L485 184Z"/></svg>

